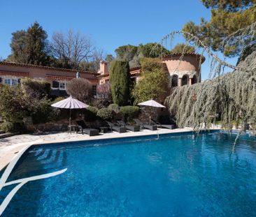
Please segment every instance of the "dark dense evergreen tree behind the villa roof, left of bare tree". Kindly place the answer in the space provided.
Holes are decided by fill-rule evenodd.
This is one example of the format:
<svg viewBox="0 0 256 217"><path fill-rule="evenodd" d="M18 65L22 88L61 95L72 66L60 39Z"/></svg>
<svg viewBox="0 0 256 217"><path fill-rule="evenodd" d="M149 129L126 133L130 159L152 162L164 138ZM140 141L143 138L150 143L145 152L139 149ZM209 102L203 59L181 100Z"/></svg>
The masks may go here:
<svg viewBox="0 0 256 217"><path fill-rule="evenodd" d="M27 31L15 31L12 35L10 43L12 53L8 57L10 61L43 66L49 64L48 36L38 22L34 22Z"/></svg>

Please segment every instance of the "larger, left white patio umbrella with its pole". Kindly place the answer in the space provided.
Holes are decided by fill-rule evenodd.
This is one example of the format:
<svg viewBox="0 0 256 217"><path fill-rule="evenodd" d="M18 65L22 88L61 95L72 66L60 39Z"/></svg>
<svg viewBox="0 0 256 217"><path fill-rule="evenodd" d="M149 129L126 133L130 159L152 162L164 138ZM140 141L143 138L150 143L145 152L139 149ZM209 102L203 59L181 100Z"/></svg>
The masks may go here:
<svg viewBox="0 0 256 217"><path fill-rule="evenodd" d="M80 102L79 100L77 100L76 98L73 98L72 96L69 96L69 98L65 98L64 100L61 100L57 103L54 103L51 106L70 110L70 112L69 112L69 125L71 125L71 110L73 110L73 109L82 109L82 108L89 107L89 105Z"/></svg>

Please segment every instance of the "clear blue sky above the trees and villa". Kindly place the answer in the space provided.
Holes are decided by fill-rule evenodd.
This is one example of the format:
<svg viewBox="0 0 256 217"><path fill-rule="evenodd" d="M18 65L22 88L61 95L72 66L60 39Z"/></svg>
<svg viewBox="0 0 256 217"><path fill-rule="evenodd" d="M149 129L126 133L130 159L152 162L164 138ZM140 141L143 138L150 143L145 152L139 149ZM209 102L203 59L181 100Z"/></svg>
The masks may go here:
<svg viewBox="0 0 256 217"><path fill-rule="evenodd" d="M80 31L92 38L107 54L115 54L120 45L159 42L173 30L182 29L188 21L210 18L211 11L200 0L1 0L0 57L10 54L13 31L27 29L34 21L47 31ZM182 41L176 38L174 43ZM235 64L236 59L229 59ZM202 66L202 77L208 77L210 62Z"/></svg>

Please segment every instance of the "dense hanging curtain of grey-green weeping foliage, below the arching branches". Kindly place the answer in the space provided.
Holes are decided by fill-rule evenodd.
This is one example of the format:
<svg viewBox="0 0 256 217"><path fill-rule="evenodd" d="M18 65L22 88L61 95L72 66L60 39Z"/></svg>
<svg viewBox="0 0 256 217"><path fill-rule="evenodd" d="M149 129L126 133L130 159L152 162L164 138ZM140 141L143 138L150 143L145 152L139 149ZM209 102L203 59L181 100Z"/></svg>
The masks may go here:
<svg viewBox="0 0 256 217"><path fill-rule="evenodd" d="M255 54L256 57L256 54ZM222 128L256 130L256 70L236 70L214 80L172 89L166 105L176 114L179 127L209 128L220 121Z"/></svg>

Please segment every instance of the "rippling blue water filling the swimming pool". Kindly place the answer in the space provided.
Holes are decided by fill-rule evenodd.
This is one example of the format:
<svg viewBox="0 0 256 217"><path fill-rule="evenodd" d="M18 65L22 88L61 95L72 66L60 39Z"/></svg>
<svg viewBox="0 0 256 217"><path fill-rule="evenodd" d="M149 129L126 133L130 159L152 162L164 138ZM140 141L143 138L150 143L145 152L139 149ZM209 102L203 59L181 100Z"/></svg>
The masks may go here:
<svg viewBox="0 0 256 217"><path fill-rule="evenodd" d="M256 216L256 138L205 133L31 147L3 216ZM0 192L0 204L15 187Z"/></svg>

